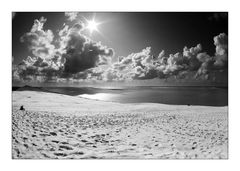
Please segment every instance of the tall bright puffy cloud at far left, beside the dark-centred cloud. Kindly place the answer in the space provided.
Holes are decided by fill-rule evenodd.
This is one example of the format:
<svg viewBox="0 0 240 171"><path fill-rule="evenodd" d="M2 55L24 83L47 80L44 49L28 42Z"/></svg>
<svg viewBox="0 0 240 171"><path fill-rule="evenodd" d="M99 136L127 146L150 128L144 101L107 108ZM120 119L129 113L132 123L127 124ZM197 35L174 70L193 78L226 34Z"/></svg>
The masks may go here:
<svg viewBox="0 0 240 171"><path fill-rule="evenodd" d="M61 53L53 43L53 32L43 29L46 21L44 17L34 20L31 30L20 38L21 42L27 44L32 56L28 56L14 67L14 79L46 81L61 75L63 70Z"/></svg>

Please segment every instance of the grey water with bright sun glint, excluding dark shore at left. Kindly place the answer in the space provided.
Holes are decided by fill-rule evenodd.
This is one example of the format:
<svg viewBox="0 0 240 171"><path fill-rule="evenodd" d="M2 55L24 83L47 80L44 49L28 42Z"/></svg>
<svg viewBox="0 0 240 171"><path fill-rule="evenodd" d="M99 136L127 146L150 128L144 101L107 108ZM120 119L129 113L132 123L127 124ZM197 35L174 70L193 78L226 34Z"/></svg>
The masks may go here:
<svg viewBox="0 0 240 171"><path fill-rule="evenodd" d="M137 87L105 90L80 97L120 103L227 106L228 90L216 87Z"/></svg>

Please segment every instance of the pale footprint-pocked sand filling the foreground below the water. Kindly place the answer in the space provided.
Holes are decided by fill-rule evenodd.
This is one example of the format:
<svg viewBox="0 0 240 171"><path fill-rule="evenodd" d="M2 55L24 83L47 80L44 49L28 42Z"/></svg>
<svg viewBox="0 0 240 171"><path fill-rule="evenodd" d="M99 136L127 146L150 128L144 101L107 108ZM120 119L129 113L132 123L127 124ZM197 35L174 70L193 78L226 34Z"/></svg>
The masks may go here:
<svg viewBox="0 0 240 171"><path fill-rule="evenodd" d="M12 98L13 158L228 157L227 107L120 104L33 91Z"/></svg>

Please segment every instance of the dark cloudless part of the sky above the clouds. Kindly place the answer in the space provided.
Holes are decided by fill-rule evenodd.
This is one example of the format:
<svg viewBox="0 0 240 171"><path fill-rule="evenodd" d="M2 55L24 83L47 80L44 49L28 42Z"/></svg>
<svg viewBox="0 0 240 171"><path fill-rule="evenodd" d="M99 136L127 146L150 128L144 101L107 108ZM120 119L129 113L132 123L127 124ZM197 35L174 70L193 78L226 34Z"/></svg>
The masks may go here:
<svg viewBox="0 0 240 171"><path fill-rule="evenodd" d="M21 63L28 56L34 56L26 41L20 42L20 38L30 32L34 20L41 17L47 19L43 30L49 29L54 34L52 44L59 38L59 30L63 29L64 24L73 27L79 21L95 17L95 21L101 23L98 25L99 32L95 31L90 35L88 31L82 31L82 34L112 48L115 52L112 56L113 62L116 62L119 56L127 57L129 54L141 52L146 47L151 47L151 54L154 56L158 56L162 50L169 56L177 52L182 53L185 46L191 48L199 43L203 52L214 56L216 46L213 38L220 33L228 35L227 12L80 12L74 21L68 20L64 12L17 12L12 19L14 65ZM81 66L83 65L82 63ZM134 68L134 72L137 69L139 70ZM213 71L209 68L207 70ZM71 72L75 71L83 70L75 68ZM136 72L139 74L140 71ZM145 75L146 73L145 70Z"/></svg>

